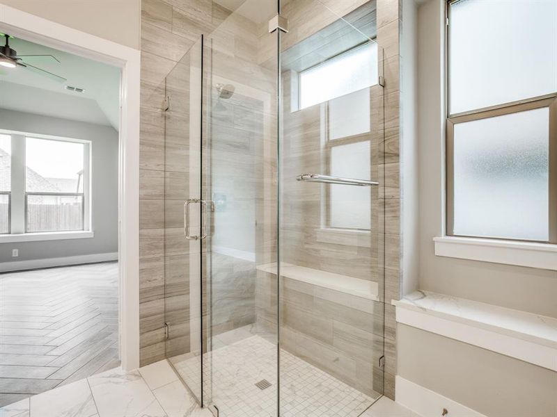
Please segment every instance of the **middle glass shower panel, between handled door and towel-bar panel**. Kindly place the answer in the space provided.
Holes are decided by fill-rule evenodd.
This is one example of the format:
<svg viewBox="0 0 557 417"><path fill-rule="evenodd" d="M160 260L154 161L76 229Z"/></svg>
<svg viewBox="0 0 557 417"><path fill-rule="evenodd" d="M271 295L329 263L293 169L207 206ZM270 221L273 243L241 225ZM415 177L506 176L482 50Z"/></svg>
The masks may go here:
<svg viewBox="0 0 557 417"><path fill-rule="evenodd" d="M277 251L276 12L244 1L203 49L204 398L219 417L277 416L276 278L261 280Z"/></svg>

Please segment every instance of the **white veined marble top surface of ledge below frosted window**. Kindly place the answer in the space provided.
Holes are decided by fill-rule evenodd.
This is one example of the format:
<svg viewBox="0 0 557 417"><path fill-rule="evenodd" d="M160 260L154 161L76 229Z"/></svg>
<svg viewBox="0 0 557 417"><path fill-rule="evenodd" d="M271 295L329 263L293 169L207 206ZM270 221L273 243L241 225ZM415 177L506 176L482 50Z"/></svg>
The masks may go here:
<svg viewBox="0 0 557 417"><path fill-rule="evenodd" d="M415 291L392 304L557 348L557 318L429 291Z"/></svg>

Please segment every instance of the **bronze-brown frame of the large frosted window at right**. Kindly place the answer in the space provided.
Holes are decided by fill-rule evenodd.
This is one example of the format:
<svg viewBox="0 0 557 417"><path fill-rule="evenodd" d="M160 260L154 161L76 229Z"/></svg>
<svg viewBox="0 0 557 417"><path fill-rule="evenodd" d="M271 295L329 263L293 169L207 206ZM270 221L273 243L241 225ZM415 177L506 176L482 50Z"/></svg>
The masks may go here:
<svg viewBox="0 0 557 417"><path fill-rule="evenodd" d="M476 108L471 111L461 113L450 113L450 6L461 0L446 1L446 25L445 25L445 109L446 109L446 129L445 129L445 167L446 167L446 236L478 239L510 240L528 243L557 243L557 92L530 97L509 103L498 104L485 108ZM510 115L523 111L534 110L536 108L549 108L549 211L548 211L548 239L517 239L501 238L499 236L476 236L468 234L454 233L454 126L458 123L472 122L475 120L488 119L501 115Z"/></svg>

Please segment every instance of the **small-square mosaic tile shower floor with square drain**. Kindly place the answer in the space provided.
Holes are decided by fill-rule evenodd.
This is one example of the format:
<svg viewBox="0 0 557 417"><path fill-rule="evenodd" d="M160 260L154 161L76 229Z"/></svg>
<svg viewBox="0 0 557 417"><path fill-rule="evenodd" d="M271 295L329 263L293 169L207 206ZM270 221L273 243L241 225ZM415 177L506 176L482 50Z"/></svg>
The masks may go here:
<svg viewBox="0 0 557 417"><path fill-rule="evenodd" d="M212 381L221 417L276 416L276 354L274 343L253 335L205 357L212 366L204 367L204 377ZM376 400L289 352L283 350L280 360L283 417L356 417ZM188 382L198 373L198 357L172 362ZM262 380L271 386L258 388Z"/></svg>

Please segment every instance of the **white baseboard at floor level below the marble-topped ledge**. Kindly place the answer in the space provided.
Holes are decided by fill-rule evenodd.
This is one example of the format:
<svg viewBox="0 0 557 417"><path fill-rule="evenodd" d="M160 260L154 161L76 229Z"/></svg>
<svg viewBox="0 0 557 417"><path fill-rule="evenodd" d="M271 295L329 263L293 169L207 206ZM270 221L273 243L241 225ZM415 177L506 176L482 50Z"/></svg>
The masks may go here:
<svg viewBox="0 0 557 417"><path fill-rule="evenodd" d="M450 417L486 417L399 375L395 379L395 391L396 402L419 416L441 416L443 409L447 409Z"/></svg>

